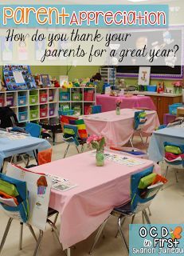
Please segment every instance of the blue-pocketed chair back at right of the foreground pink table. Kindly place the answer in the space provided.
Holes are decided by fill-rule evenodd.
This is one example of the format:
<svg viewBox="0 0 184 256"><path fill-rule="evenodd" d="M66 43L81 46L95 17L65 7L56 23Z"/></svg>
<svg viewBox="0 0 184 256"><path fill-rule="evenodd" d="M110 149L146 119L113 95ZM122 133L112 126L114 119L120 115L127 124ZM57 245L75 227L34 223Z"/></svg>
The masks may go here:
<svg viewBox="0 0 184 256"><path fill-rule="evenodd" d="M154 166L151 166L146 170L131 175L131 210L134 213L149 207L153 198L155 198L155 195L162 187L163 183L158 183L159 189L158 186L154 186L151 191L147 190L151 184L154 184L157 176L157 174L153 173L153 169Z"/></svg>

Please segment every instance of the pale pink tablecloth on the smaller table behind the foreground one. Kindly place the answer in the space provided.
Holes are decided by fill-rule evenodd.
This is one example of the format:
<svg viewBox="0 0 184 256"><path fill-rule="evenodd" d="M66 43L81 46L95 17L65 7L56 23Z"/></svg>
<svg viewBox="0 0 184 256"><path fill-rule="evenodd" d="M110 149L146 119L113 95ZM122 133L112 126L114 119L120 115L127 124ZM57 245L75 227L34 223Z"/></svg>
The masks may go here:
<svg viewBox="0 0 184 256"><path fill-rule="evenodd" d="M123 146L134 133L134 109L123 109L120 115L115 110L84 116L88 134L103 135L107 146ZM159 126L159 118L155 110L146 110L147 122L143 126L144 134L151 134Z"/></svg>

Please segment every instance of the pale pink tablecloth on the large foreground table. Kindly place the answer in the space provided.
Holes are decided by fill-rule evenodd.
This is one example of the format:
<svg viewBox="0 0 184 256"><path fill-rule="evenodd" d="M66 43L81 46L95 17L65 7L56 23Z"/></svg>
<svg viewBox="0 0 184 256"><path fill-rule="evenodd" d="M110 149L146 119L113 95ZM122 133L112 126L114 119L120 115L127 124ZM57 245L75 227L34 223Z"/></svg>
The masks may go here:
<svg viewBox="0 0 184 256"><path fill-rule="evenodd" d="M51 190L49 206L61 214L60 238L69 248L88 238L108 217L114 206L129 200L131 174L151 166L152 161L128 167L106 160L102 167L96 166L92 151L61 159L33 170L69 178L75 188L60 192ZM159 166L155 166L159 171Z"/></svg>

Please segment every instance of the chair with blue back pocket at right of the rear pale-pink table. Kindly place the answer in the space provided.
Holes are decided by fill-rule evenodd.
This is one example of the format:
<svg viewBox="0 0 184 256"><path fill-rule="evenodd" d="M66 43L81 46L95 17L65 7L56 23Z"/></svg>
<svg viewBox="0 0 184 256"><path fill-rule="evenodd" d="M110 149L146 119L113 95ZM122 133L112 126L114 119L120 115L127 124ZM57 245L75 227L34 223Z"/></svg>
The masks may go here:
<svg viewBox="0 0 184 256"><path fill-rule="evenodd" d="M135 111L134 114L134 133L132 134L131 138L130 138L130 143L131 146L134 147L133 145L133 139L134 139L134 134L135 133L139 133L139 136L141 138L141 141L143 143L143 146L145 146L145 142L143 141L143 136L142 136L142 129L143 126L145 124L145 122L147 122L147 118L146 118L147 114L145 112L145 110L141 110L141 111Z"/></svg>

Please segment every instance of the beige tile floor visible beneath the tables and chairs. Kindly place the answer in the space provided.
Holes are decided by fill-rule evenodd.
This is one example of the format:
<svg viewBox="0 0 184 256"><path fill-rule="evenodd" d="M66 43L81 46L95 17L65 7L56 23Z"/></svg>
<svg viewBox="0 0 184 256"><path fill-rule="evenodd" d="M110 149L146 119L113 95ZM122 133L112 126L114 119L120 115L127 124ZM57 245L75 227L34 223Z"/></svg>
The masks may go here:
<svg viewBox="0 0 184 256"><path fill-rule="evenodd" d="M136 147L140 148L139 142L136 141ZM65 151L65 144L59 143L53 146L53 160L57 160L63 157ZM69 150L69 155L76 154L76 149L72 148ZM68 155L68 157L69 157ZM162 166L162 171L164 166ZM168 171L167 178L169 182L166 184L164 190L160 191L154 202L151 204L151 222L152 223L183 223L184 222L184 175L182 170L178 171L178 180L176 183L174 172L170 169ZM0 212L0 241L2 239L2 234L6 227L6 222L8 218L5 214ZM128 223L130 220L124 224L124 233L128 238ZM135 223L141 223L142 218L137 215L135 218ZM60 220L57 221L57 226L60 225ZM94 256L120 256L127 255L123 248L120 237L115 238L115 232L117 228L117 219L112 217L109 219L108 224L105 229L105 238L100 238L100 242L96 245L94 250ZM80 232L80 230L79 230ZM92 234L86 240L76 244L76 248L72 248L72 256L84 256L88 255L88 250L92 245L93 238L96 232ZM14 221L11 228L10 234L6 239L6 244L2 250L2 256L32 256L35 246L35 242L32 235L29 233L28 228L25 226L23 233L23 246L22 250L18 250L18 238L19 238L19 223ZM41 250L39 255L41 256L64 256L65 252L61 250L57 239L54 237L53 232L51 232L49 226L45 230L44 238L41 243Z"/></svg>

